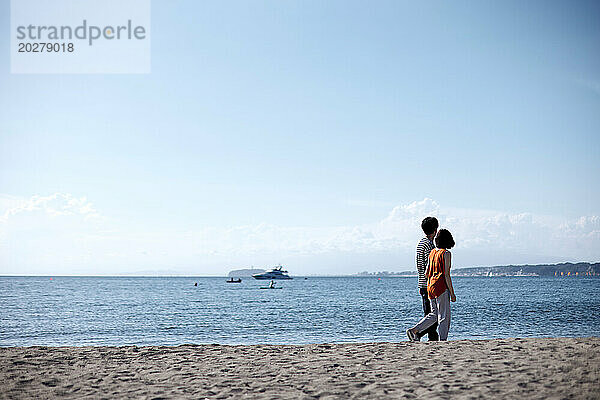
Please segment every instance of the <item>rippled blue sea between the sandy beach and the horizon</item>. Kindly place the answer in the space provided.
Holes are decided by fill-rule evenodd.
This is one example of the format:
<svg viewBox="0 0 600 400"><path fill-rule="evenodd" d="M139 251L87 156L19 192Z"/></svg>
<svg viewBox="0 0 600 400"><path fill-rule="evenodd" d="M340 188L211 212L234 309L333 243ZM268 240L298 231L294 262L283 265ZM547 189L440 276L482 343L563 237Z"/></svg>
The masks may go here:
<svg viewBox="0 0 600 400"><path fill-rule="evenodd" d="M197 282L198 286L194 286ZM600 336L600 279L453 278L449 340ZM416 278L0 277L0 346L404 341Z"/></svg>

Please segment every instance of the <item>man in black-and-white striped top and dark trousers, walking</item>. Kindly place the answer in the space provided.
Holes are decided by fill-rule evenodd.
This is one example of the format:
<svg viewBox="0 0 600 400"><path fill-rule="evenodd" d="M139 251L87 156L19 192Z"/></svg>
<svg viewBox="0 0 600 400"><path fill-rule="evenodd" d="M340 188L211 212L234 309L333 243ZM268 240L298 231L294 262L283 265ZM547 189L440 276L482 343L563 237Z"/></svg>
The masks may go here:
<svg viewBox="0 0 600 400"><path fill-rule="evenodd" d="M435 248L433 245L433 238L435 238L438 226L439 223L435 217L425 218L421 222L421 229L423 229L425 237L417 244L415 262L417 264L417 272L419 273L419 294L421 295L421 301L423 302L423 315L428 315L431 312L431 305L429 303L429 297L427 296L427 276L425 275L425 271L427 269L427 263L429 262L429 253ZM437 334L437 322L419 333L417 340L421 340L421 337L425 335L429 337L429 341L439 340Z"/></svg>

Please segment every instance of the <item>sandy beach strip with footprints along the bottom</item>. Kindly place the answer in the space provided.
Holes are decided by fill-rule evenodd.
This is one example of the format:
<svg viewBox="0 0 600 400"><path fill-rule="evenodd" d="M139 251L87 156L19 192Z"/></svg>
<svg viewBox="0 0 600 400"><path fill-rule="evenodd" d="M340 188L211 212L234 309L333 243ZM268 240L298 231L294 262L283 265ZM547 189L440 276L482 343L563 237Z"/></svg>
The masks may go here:
<svg viewBox="0 0 600 400"><path fill-rule="evenodd" d="M600 398L600 338L0 348L0 398Z"/></svg>

